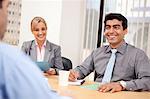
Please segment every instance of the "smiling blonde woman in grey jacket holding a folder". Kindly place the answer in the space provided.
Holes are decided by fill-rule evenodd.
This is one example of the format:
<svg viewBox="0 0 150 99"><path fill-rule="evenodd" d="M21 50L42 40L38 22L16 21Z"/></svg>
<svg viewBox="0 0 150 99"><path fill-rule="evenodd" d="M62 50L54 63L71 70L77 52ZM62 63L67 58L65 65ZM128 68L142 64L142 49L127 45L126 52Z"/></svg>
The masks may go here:
<svg viewBox="0 0 150 99"><path fill-rule="evenodd" d="M42 17L34 17L31 21L31 31L35 40L24 42L22 50L35 62L51 64L52 67L46 73L50 75L58 74L58 70L63 69L61 48L46 39L46 21Z"/></svg>

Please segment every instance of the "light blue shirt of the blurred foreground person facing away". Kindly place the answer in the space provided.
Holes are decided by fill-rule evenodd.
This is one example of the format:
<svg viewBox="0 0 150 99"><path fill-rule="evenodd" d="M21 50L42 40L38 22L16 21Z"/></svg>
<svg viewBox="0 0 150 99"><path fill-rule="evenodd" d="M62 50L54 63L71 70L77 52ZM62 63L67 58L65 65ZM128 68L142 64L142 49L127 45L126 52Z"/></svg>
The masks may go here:
<svg viewBox="0 0 150 99"><path fill-rule="evenodd" d="M0 99L67 99L51 91L35 64L19 49L0 43Z"/></svg>

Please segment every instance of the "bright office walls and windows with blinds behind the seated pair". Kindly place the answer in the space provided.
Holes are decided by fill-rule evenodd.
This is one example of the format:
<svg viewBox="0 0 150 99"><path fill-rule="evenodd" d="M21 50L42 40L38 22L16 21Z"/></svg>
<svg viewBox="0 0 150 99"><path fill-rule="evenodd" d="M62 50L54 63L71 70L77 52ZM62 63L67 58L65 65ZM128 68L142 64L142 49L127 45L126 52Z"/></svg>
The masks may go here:
<svg viewBox="0 0 150 99"><path fill-rule="evenodd" d="M11 0L4 42L20 48L22 42L34 39L30 22L41 16L47 21L47 39L60 45L62 56L77 66L97 46L107 44L103 17L108 12L128 18L126 41L150 57L150 0Z"/></svg>

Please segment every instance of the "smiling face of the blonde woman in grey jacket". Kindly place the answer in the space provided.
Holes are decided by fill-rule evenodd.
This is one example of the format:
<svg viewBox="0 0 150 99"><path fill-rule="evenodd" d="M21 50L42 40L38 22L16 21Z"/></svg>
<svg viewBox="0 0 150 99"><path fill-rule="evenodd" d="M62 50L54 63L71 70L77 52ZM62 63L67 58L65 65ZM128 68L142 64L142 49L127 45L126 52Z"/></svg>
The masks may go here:
<svg viewBox="0 0 150 99"><path fill-rule="evenodd" d="M32 33L37 42L44 42L46 40L47 28L43 22L32 24Z"/></svg>

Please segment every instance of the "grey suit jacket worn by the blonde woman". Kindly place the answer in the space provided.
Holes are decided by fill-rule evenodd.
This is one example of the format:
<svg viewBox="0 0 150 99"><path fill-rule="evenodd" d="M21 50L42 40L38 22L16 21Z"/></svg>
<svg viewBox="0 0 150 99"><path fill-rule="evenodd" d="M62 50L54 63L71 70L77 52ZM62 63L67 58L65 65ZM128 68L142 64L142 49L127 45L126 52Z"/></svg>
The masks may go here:
<svg viewBox="0 0 150 99"><path fill-rule="evenodd" d="M33 61L37 61L35 40L24 42L22 45L22 51L29 55ZM63 69L60 46L47 40L44 61L50 63L52 68L56 68L57 73L58 69Z"/></svg>

